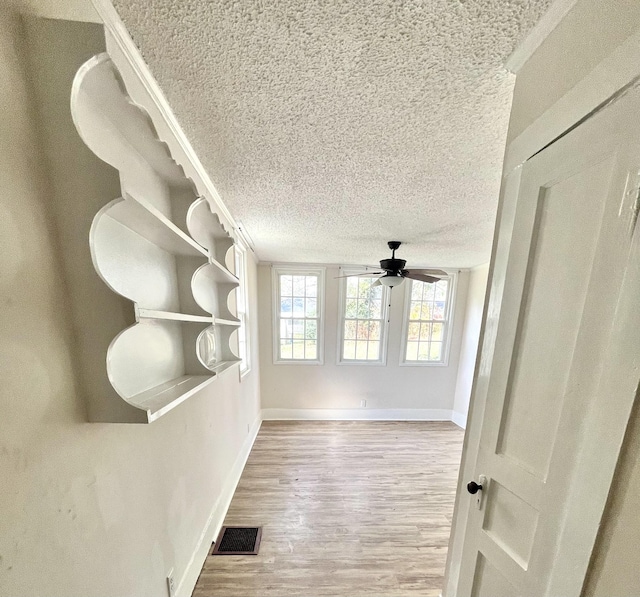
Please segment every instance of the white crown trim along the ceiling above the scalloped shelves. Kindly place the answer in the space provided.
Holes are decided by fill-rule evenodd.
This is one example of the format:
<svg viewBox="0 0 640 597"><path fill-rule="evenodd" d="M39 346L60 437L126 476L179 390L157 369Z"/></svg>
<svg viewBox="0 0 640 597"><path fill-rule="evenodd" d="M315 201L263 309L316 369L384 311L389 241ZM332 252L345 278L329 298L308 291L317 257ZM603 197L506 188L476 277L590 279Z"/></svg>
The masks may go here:
<svg viewBox="0 0 640 597"><path fill-rule="evenodd" d="M209 177L205 167L202 165L200 158L194 151L189 139L185 135L178 119L176 118L167 98L165 97L160 85L155 80L154 76L151 74L149 67L147 66L140 50L136 46L135 42L129 35L127 28L124 23L120 19L116 9L114 8L111 0L91 0L96 12L102 19L105 28L109 31L113 40L117 44L118 48L127 59L127 62L131 65L131 68L135 72L136 76L140 79L143 87L146 92L149 94L149 97L153 101L156 109L162 117L164 118L169 130L175 137L176 142L190 160L191 165L196 171L197 175L200 177L200 180L207 191L207 199L215 204L215 211L221 213L229 222L229 224L233 227L234 232L237 236L240 236L246 245L250 246L250 243L247 241L243 231L238 226L238 223L235 221L234 217L231 215L231 212L228 210L227 206L222 201L218 190L216 189L213 181ZM254 251L255 252L255 251Z"/></svg>

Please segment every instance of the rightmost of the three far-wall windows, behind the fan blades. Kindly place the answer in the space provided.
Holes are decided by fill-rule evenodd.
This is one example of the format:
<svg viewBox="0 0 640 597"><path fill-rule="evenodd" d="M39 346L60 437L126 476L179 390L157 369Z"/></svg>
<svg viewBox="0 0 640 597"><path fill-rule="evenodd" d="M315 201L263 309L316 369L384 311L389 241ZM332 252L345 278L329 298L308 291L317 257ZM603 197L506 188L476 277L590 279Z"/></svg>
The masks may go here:
<svg viewBox="0 0 640 597"><path fill-rule="evenodd" d="M404 364L446 365L454 278L407 280Z"/></svg>

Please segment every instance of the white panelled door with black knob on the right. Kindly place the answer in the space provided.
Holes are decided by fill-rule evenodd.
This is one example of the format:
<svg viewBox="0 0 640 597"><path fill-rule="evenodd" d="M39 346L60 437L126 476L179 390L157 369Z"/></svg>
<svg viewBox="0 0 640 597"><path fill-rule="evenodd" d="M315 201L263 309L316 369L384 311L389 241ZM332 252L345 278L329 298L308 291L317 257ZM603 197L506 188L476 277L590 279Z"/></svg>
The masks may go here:
<svg viewBox="0 0 640 597"><path fill-rule="evenodd" d="M504 185L456 597L581 592L640 379L639 173L634 89Z"/></svg>

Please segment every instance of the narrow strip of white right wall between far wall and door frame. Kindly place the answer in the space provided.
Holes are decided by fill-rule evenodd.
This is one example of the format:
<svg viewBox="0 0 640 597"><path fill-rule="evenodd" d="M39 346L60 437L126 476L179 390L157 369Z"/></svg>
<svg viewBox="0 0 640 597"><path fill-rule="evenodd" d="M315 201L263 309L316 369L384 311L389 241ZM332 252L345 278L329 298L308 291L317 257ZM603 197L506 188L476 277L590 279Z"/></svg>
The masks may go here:
<svg viewBox="0 0 640 597"><path fill-rule="evenodd" d="M453 400L453 421L462 428L467 426L467 413L469 411L473 374L478 354L478 339L480 337L488 275L488 263L474 267L469 272L469 291L465 308L456 392Z"/></svg>

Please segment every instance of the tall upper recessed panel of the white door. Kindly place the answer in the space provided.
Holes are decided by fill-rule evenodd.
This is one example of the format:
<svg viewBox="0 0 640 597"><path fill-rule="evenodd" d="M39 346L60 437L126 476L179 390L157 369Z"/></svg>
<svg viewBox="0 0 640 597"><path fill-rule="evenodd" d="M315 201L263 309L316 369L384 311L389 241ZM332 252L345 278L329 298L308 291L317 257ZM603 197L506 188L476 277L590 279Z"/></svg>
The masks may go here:
<svg viewBox="0 0 640 597"><path fill-rule="evenodd" d="M497 453L546 480L612 158L542 189Z"/></svg>

